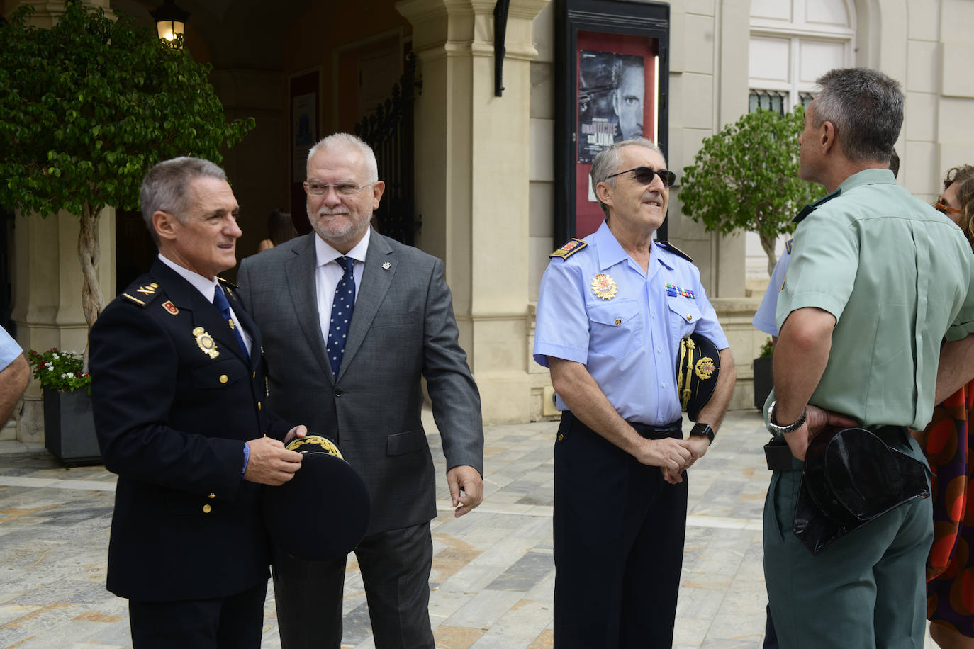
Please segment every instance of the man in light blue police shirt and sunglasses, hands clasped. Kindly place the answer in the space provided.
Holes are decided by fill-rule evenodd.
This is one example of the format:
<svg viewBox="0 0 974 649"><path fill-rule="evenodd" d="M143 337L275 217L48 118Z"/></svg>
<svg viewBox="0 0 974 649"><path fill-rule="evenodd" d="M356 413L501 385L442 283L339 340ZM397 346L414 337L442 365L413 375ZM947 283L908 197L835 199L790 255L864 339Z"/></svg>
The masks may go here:
<svg viewBox="0 0 974 649"><path fill-rule="evenodd" d="M555 443L554 644L670 647L687 515L685 470L733 388L727 337L684 253L654 241L674 180L656 146L627 140L592 164L607 220L552 253L534 358L551 371ZM720 349L714 394L684 439L680 339ZM714 359L716 360L716 359Z"/></svg>

